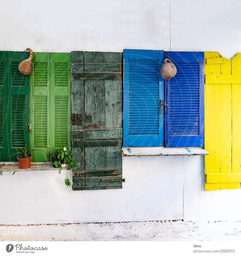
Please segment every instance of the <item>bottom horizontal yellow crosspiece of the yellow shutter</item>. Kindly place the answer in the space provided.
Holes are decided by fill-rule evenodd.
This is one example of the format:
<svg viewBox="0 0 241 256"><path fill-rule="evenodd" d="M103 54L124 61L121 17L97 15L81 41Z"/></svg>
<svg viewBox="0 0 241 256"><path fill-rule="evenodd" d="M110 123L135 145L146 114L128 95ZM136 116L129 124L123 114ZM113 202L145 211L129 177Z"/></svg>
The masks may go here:
<svg viewBox="0 0 241 256"><path fill-rule="evenodd" d="M239 183L241 182L241 173L213 173L205 174L206 183Z"/></svg>

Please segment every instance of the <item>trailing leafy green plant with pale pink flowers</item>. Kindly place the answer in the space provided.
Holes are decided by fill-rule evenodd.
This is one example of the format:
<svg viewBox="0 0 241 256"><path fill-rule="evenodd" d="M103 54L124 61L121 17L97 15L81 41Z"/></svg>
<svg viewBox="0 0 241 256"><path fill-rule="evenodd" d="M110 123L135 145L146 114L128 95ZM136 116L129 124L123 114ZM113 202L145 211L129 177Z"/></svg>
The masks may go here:
<svg viewBox="0 0 241 256"><path fill-rule="evenodd" d="M52 156L53 166L55 166L56 168L62 170L62 168L66 167L67 165L66 175L68 170L71 170L72 168L76 169L78 167L77 162L74 160L74 153L71 151L70 147L68 146L59 148L58 150L53 152L51 156ZM64 182L67 188L70 187L71 183L68 175L64 180Z"/></svg>

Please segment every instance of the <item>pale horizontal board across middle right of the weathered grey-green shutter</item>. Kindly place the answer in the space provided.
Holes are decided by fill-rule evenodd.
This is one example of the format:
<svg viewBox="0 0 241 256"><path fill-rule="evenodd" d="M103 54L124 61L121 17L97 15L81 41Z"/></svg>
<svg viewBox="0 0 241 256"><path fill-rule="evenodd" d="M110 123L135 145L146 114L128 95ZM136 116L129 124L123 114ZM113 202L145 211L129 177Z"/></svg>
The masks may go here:
<svg viewBox="0 0 241 256"><path fill-rule="evenodd" d="M86 140L122 139L122 129L85 129Z"/></svg>

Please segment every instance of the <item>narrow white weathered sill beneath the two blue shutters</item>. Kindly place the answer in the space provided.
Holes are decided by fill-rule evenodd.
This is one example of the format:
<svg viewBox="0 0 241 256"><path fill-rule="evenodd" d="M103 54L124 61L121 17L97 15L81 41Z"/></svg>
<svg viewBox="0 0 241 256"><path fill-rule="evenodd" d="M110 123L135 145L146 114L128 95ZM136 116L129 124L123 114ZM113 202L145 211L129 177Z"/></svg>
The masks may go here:
<svg viewBox="0 0 241 256"><path fill-rule="evenodd" d="M129 150L128 150L129 149ZM188 150L190 151L188 151ZM195 156L209 155L200 147L123 147L123 156Z"/></svg>

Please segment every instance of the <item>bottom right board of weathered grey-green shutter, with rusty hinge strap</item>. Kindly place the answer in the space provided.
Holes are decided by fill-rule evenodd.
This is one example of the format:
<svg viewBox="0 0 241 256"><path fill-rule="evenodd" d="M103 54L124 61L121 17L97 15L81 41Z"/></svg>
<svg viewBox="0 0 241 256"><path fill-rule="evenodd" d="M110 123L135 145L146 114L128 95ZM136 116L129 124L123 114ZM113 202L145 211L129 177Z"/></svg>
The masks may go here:
<svg viewBox="0 0 241 256"><path fill-rule="evenodd" d="M101 177L86 177L85 178L85 189L96 190L96 189L111 189L111 188L122 188L122 182L108 182L106 179L111 179L111 176ZM101 180L104 181L101 181ZM122 179L122 176L115 176L115 179Z"/></svg>

